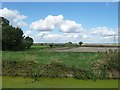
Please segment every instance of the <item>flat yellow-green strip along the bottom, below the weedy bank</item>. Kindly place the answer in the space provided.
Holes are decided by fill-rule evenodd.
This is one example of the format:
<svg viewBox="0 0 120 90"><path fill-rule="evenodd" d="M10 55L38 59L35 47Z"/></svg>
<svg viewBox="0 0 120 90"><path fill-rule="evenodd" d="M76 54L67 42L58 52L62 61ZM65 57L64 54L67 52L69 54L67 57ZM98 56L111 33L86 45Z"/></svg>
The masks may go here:
<svg viewBox="0 0 120 90"><path fill-rule="evenodd" d="M39 78L33 82L31 78L3 77L3 88L118 88L118 80L77 80L73 78L50 79Z"/></svg>

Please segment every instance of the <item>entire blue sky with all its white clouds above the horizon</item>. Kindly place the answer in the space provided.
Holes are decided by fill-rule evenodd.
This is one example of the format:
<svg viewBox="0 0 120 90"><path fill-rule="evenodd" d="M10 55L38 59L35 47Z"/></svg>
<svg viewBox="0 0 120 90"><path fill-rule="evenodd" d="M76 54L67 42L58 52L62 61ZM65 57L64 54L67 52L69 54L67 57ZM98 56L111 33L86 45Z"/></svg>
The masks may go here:
<svg viewBox="0 0 120 90"><path fill-rule="evenodd" d="M117 42L117 2L3 2L0 16L37 43Z"/></svg>

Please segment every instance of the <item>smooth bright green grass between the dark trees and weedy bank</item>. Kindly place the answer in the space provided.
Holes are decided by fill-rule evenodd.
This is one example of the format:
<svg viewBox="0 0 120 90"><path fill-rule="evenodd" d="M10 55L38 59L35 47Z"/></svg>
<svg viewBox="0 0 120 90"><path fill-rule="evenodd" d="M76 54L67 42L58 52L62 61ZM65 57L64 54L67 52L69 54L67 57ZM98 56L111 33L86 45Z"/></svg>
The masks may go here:
<svg viewBox="0 0 120 90"><path fill-rule="evenodd" d="M32 46L30 50L26 51L3 51L3 60L14 61L35 61L39 64L49 64L51 62L62 62L68 66L75 67L90 67L91 62L99 58L98 53L89 52L43 52L43 49L48 46Z"/></svg>

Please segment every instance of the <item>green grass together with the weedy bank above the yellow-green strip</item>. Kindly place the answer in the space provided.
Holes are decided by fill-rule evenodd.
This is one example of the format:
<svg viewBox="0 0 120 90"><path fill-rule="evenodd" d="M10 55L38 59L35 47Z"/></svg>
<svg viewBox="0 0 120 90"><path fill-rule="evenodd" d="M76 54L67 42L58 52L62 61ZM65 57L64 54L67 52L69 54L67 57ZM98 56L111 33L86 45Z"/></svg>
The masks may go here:
<svg viewBox="0 0 120 90"><path fill-rule="evenodd" d="M48 47L43 47L45 49ZM76 79L109 79L118 77L118 51L43 52L31 50L3 51L3 75Z"/></svg>

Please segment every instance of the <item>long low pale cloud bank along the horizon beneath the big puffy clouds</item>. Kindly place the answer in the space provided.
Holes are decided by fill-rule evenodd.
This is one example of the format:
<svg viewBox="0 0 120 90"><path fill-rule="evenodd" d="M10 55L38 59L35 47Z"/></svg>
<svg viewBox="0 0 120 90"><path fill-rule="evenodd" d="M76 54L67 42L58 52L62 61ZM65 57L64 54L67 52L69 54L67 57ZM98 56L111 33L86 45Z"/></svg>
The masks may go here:
<svg viewBox="0 0 120 90"><path fill-rule="evenodd" d="M92 28L85 33L52 33L52 32L40 32L35 36L36 42L48 42L48 43L65 43L83 41L84 43L114 43L114 29L111 28ZM117 42L117 36L115 37Z"/></svg>

